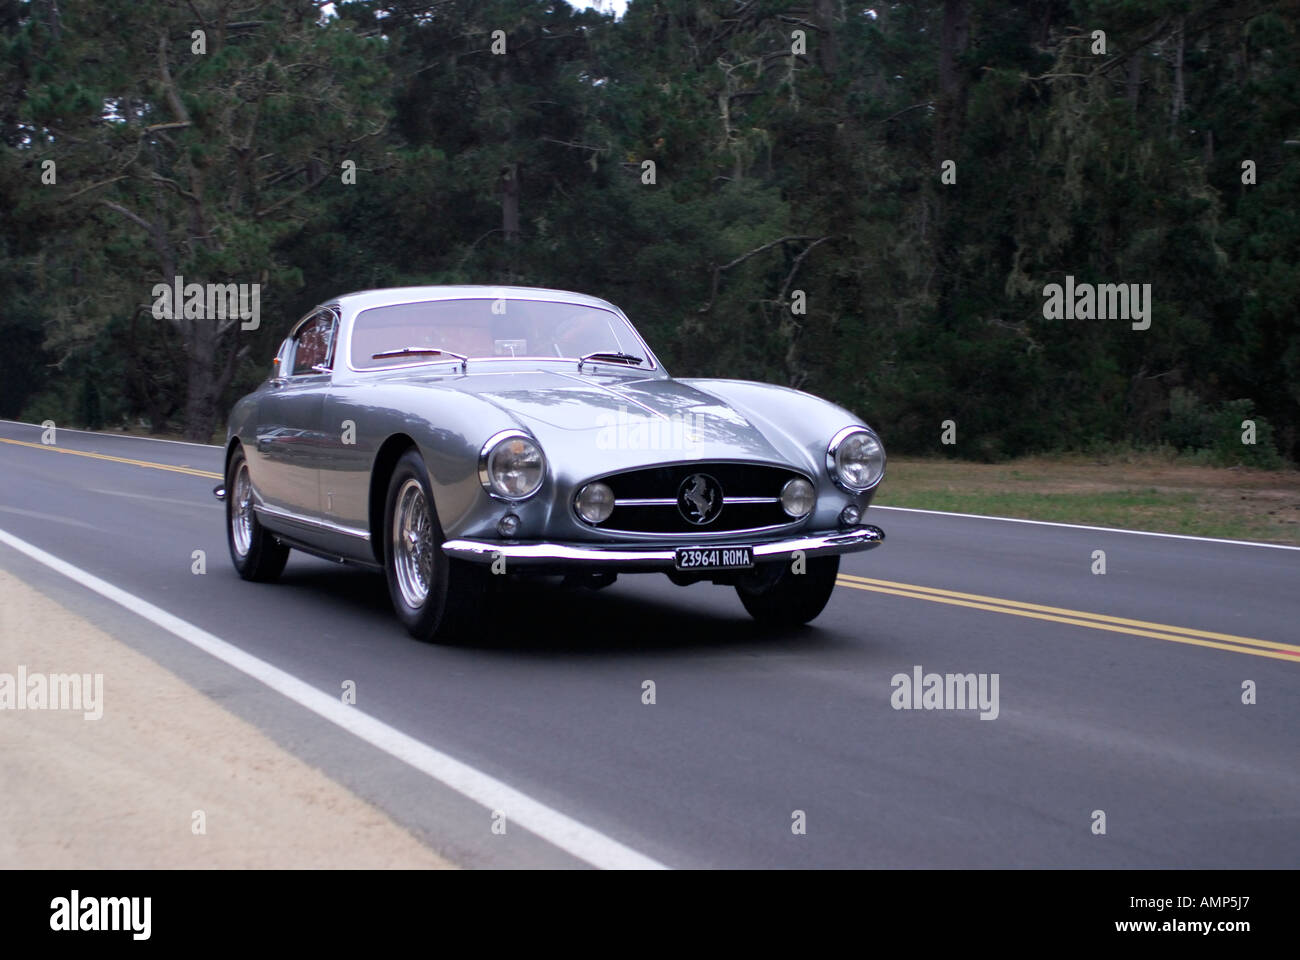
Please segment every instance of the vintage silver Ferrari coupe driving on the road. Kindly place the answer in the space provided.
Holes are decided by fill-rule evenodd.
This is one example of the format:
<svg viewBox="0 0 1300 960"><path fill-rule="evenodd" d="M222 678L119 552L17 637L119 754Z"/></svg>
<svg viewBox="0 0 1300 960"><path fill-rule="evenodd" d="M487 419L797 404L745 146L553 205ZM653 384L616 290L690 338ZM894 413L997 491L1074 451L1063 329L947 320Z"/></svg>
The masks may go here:
<svg viewBox="0 0 1300 960"><path fill-rule="evenodd" d="M534 287L347 294L299 320L226 433L230 558L290 549L382 570L398 618L472 631L488 591L618 574L736 588L806 623L863 514L880 438L849 411L744 380L676 380L611 303Z"/></svg>

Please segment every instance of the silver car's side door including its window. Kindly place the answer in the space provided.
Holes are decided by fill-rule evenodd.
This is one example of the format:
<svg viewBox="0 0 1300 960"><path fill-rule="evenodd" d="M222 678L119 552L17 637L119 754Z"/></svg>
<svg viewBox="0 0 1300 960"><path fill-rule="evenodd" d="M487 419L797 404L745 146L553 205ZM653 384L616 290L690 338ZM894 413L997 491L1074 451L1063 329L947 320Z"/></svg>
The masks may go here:
<svg viewBox="0 0 1300 960"><path fill-rule="evenodd" d="M299 321L280 376L257 407L254 481L270 514L320 520L321 414L330 384L338 315L318 310Z"/></svg>

